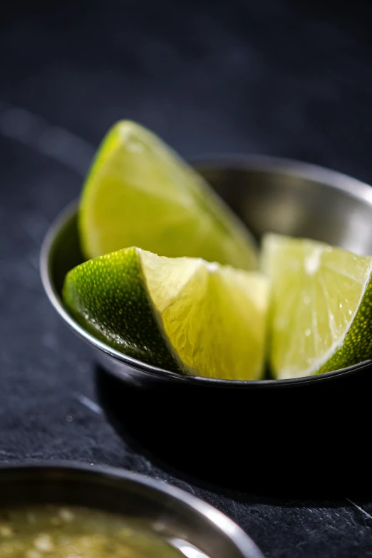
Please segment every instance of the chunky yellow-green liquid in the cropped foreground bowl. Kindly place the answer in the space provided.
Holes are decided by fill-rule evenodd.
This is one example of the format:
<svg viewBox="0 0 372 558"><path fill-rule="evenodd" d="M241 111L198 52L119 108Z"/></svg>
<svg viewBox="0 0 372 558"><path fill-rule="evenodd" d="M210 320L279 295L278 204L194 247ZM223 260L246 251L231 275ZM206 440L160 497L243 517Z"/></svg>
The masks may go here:
<svg viewBox="0 0 372 558"><path fill-rule="evenodd" d="M0 509L1 558L181 558L140 520L82 507Z"/></svg>

